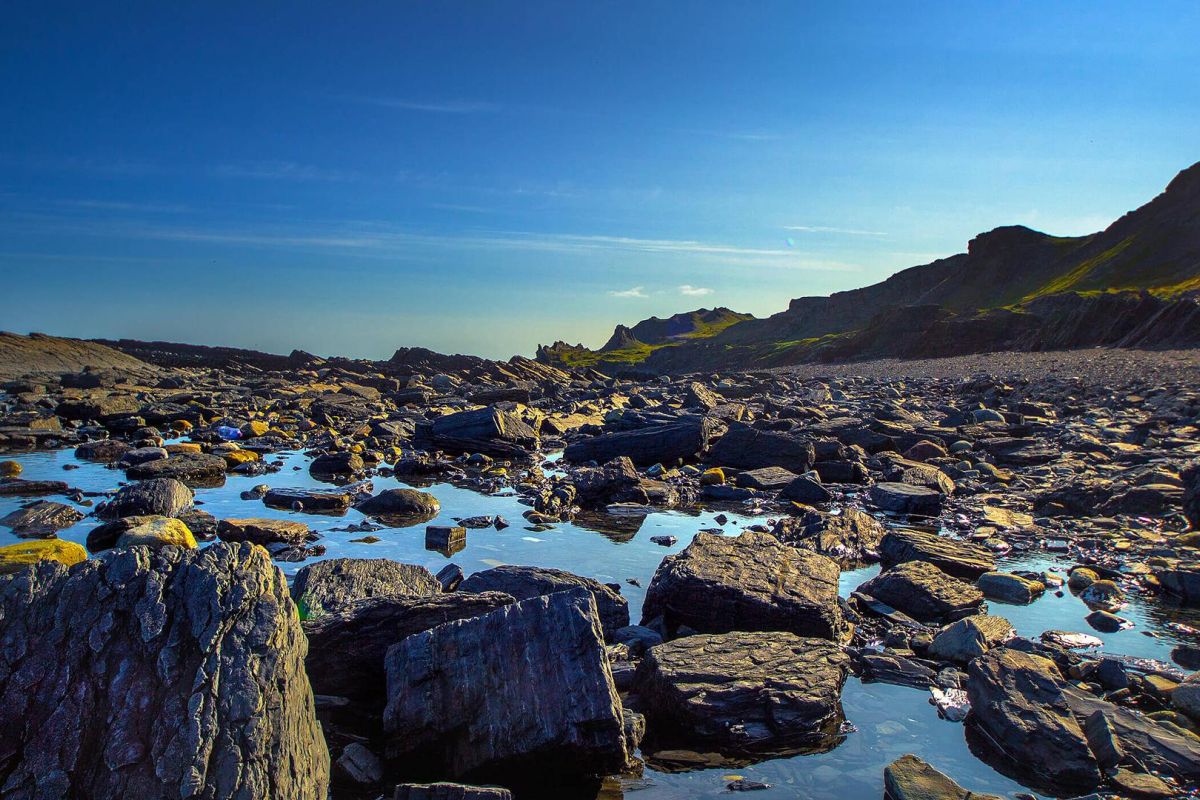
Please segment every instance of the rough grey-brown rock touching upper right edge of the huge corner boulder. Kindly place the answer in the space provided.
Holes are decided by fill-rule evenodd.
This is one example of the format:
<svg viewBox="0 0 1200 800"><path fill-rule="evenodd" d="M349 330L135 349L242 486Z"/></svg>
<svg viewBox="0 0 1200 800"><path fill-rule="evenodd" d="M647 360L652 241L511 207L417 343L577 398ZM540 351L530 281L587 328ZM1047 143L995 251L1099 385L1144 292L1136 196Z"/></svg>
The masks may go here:
<svg viewBox="0 0 1200 800"><path fill-rule="evenodd" d="M326 559L301 567L292 582L292 596L308 618L367 597L440 591L442 584L425 567L390 559Z"/></svg>

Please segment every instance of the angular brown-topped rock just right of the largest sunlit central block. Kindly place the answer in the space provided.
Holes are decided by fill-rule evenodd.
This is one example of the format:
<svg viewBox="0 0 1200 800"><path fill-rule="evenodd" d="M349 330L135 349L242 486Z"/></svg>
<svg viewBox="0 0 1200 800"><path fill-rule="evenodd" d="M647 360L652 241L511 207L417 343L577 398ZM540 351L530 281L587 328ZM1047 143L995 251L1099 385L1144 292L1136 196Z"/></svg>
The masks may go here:
<svg viewBox="0 0 1200 800"><path fill-rule="evenodd" d="M926 561L905 561L857 589L922 622L954 621L978 612L983 593Z"/></svg>

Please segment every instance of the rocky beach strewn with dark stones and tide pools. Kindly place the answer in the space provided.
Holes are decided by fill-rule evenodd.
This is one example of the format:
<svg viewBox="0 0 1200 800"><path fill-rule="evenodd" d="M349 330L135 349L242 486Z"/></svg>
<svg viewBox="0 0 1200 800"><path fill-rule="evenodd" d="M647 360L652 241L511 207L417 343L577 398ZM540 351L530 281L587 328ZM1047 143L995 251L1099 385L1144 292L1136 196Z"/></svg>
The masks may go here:
<svg viewBox="0 0 1200 800"><path fill-rule="evenodd" d="M1200 786L1194 350L4 342L0 796Z"/></svg>

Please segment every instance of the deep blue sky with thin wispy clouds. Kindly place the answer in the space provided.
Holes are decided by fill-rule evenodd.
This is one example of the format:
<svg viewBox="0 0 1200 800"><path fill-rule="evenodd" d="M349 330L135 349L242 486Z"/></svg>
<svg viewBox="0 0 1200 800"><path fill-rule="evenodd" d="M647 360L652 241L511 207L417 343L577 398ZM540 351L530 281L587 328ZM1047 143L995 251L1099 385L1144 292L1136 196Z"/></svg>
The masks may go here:
<svg viewBox="0 0 1200 800"><path fill-rule="evenodd" d="M1200 161L1200 4L13 2L0 329L488 357L757 315Z"/></svg>

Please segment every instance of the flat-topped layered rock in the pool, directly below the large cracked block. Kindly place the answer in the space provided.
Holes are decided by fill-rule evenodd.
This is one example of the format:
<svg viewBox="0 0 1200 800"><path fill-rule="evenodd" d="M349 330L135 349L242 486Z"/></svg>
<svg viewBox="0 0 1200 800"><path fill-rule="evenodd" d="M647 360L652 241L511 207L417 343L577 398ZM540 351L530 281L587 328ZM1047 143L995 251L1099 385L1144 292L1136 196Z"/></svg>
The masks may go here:
<svg viewBox="0 0 1200 800"><path fill-rule="evenodd" d="M714 633L650 648L635 691L655 735L754 752L835 738L848 672L828 639Z"/></svg>

